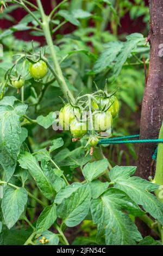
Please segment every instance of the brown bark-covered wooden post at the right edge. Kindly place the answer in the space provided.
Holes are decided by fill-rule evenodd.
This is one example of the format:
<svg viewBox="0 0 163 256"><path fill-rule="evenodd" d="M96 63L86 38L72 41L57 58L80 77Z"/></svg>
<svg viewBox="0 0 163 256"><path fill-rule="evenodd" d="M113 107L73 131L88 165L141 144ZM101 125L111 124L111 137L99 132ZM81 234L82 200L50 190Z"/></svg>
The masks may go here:
<svg viewBox="0 0 163 256"><path fill-rule="evenodd" d="M150 64L142 102L140 138L156 139L163 113L163 1L149 0L151 44ZM151 173L152 154L155 144L141 144L137 163L137 175L148 179ZM163 157L163 156L162 156Z"/></svg>

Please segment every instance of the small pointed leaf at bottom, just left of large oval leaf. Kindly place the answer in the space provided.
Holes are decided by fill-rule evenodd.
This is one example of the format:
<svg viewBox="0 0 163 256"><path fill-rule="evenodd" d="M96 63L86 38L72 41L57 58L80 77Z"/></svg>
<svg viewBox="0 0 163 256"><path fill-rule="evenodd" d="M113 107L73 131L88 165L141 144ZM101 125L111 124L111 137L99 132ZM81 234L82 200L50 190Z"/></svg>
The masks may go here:
<svg viewBox="0 0 163 256"><path fill-rule="evenodd" d="M49 229L51 225L57 219L57 208L55 204L47 206L40 214L37 223L36 230L37 233L42 233L43 231Z"/></svg>

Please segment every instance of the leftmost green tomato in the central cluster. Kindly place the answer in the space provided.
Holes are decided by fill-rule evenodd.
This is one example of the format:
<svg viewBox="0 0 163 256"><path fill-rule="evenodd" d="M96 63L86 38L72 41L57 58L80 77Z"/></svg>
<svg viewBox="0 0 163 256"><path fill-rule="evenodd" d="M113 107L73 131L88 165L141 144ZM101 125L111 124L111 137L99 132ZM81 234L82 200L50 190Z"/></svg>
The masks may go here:
<svg viewBox="0 0 163 256"><path fill-rule="evenodd" d="M66 104L61 108L59 113L59 124L65 129L69 130L71 121L77 117L80 119L80 109Z"/></svg>

